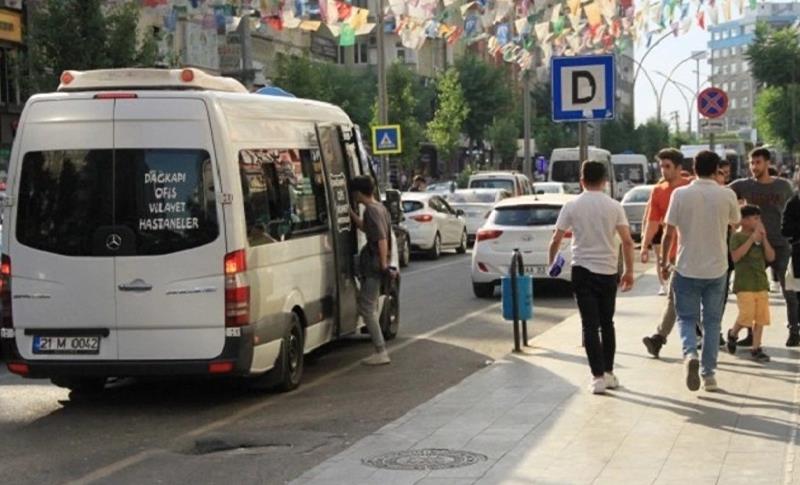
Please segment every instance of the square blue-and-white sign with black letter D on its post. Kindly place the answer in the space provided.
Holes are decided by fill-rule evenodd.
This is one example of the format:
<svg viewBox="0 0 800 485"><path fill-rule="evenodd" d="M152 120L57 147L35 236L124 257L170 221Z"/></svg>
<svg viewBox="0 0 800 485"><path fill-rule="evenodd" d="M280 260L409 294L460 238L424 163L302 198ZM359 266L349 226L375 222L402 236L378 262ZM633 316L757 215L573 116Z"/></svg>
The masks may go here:
<svg viewBox="0 0 800 485"><path fill-rule="evenodd" d="M580 161L589 158L586 123L614 119L613 55L554 57L551 61L553 121L578 122Z"/></svg>

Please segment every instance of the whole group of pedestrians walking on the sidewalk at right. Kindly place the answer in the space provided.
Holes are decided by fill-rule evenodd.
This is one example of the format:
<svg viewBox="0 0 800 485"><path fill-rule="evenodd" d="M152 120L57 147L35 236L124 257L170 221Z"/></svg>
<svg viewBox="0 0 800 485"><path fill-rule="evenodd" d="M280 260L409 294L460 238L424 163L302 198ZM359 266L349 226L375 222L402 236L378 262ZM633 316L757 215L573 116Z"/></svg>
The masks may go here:
<svg viewBox="0 0 800 485"><path fill-rule="evenodd" d="M645 211L640 259L647 263L656 249L667 298L655 333L643 343L658 358L677 324L686 386L713 392L718 390L720 347L730 353L750 347L754 361L770 360L762 346L770 325L767 268L786 303L786 346L800 346L800 195L789 180L774 175L770 152L763 148L749 154L751 176L733 182L730 163L711 151L684 160L680 151L667 148L656 158L662 179ZM615 300L618 287L627 291L633 286L633 241L622 207L603 194L607 176L603 164L583 163L584 191L564 205L550 243L552 262L566 232L573 233L573 291L591 369L590 391L596 394L619 385L614 375ZM625 261L622 275L617 236ZM738 315L723 333L730 290ZM747 336L739 340L745 329Z"/></svg>

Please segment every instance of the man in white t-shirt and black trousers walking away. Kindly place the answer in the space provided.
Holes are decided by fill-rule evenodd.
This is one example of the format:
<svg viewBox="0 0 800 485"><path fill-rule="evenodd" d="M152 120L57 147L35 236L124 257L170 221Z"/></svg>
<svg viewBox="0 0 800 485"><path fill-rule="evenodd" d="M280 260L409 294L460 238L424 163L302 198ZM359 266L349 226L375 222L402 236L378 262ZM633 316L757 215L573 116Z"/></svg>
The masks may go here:
<svg viewBox="0 0 800 485"><path fill-rule="evenodd" d="M594 394L619 386L614 375L617 285L622 291L633 288L633 239L622 205L603 192L607 182L605 165L583 162L584 192L561 209L549 254L552 265L564 234L571 230L572 287L583 322L584 346L592 370L590 390ZM622 239L625 259L621 278L617 269L617 234Z"/></svg>

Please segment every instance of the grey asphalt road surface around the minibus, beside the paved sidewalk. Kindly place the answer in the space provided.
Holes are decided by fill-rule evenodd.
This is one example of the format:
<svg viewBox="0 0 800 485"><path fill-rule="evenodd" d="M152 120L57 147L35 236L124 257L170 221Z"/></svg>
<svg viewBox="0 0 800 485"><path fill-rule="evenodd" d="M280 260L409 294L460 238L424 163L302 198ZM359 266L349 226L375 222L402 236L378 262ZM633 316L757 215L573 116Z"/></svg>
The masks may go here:
<svg viewBox="0 0 800 485"><path fill-rule="evenodd" d="M575 312L536 287L532 336ZM575 338L580 338L575 329ZM367 368L367 336L310 356L300 389L126 380L91 400L0 372L0 483L285 483L507 354L500 299L472 294L469 255L404 270L393 363Z"/></svg>

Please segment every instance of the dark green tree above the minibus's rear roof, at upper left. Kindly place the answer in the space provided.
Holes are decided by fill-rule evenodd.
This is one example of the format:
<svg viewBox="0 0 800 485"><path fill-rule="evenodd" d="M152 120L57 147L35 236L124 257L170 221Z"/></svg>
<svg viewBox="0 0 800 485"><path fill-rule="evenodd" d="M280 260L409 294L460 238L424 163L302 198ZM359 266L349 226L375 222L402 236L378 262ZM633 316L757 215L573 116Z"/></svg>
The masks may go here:
<svg viewBox="0 0 800 485"><path fill-rule="evenodd" d="M61 72L152 66L152 36L137 37L139 7L128 2L106 9L102 0L45 0L32 10L28 34L33 72L28 89L50 91Z"/></svg>

